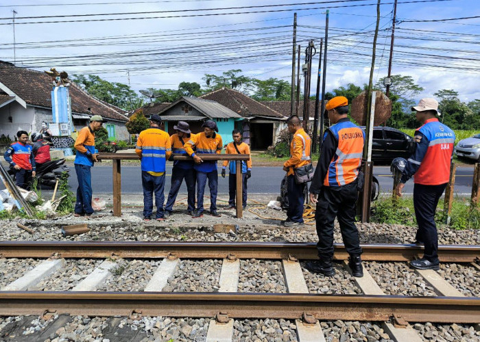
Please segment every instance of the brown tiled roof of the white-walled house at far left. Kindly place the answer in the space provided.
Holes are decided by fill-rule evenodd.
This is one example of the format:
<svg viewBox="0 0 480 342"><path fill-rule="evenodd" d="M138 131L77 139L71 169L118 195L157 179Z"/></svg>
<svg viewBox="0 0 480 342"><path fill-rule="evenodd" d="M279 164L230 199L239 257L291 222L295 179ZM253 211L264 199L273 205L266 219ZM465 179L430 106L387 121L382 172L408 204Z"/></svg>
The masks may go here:
<svg viewBox="0 0 480 342"><path fill-rule="evenodd" d="M17 68L0 63L0 82L29 105L51 108L51 78L40 71ZM126 122L125 111L104 101L99 101L75 83L70 86L72 111L77 114L98 114L111 120Z"/></svg>

